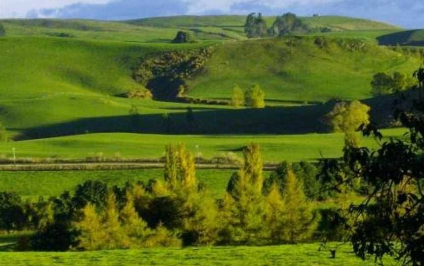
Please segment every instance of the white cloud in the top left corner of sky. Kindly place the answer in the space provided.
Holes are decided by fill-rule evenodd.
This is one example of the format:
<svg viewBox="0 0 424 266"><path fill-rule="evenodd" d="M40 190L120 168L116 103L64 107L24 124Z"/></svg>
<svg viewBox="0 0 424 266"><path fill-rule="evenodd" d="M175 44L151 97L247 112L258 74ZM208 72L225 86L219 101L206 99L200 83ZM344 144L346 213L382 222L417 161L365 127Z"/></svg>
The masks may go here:
<svg viewBox="0 0 424 266"><path fill-rule="evenodd" d="M0 18L23 18L31 10L59 8L74 3L107 3L111 0L0 0Z"/></svg>

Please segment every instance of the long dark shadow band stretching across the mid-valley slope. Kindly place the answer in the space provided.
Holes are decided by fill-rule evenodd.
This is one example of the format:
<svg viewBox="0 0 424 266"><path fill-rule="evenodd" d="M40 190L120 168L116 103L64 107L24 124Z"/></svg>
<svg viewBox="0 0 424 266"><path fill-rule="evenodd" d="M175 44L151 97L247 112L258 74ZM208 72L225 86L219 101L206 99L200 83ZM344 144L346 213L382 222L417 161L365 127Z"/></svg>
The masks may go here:
<svg viewBox="0 0 424 266"><path fill-rule="evenodd" d="M325 132L320 119L331 105L268 107L263 109L195 110L186 112L83 118L27 129L19 139L84 133L156 134L304 134Z"/></svg>

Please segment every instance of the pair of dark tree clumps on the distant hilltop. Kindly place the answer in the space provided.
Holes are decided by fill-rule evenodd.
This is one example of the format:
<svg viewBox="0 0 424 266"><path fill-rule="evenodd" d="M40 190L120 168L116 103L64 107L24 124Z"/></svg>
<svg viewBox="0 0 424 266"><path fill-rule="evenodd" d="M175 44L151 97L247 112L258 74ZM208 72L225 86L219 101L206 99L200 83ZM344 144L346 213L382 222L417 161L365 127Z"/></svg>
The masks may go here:
<svg viewBox="0 0 424 266"><path fill-rule="evenodd" d="M293 13L286 13L282 16L278 16L269 28L261 13L258 15L256 15L256 13L250 13L244 25L244 32L248 38L278 37L289 35L293 32L309 32L310 30L311 29L303 24L302 20Z"/></svg>

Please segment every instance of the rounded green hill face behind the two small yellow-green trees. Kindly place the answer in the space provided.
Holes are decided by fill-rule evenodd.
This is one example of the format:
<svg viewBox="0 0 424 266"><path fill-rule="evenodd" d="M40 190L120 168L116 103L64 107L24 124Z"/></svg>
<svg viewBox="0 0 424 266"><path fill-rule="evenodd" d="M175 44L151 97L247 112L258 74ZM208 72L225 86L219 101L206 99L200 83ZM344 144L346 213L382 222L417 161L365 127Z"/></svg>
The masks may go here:
<svg viewBox="0 0 424 266"><path fill-rule="evenodd" d="M234 84L258 83L268 100L327 101L371 96L380 71L412 73L421 63L357 39L289 37L218 46L204 75L187 80L189 95L231 98Z"/></svg>

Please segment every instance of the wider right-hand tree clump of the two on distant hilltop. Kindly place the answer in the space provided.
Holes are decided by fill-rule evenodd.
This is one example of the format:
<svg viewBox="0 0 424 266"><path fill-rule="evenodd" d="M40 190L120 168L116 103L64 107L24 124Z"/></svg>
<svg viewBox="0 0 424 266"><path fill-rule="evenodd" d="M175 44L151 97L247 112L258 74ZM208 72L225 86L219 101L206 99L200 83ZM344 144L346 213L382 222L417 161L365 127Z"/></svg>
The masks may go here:
<svg viewBox="0 0 424 266"><path fill-rule="evenodd" d="M307 27L293 13L278 16L271 27L273 36L284 36L295 31L306 31Z"/></svg>

